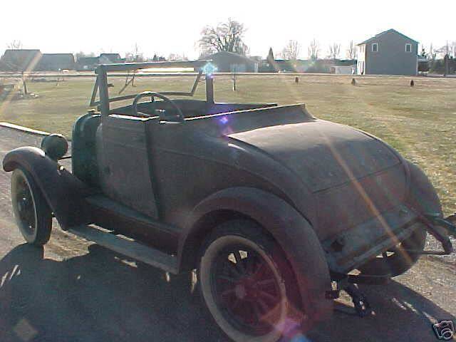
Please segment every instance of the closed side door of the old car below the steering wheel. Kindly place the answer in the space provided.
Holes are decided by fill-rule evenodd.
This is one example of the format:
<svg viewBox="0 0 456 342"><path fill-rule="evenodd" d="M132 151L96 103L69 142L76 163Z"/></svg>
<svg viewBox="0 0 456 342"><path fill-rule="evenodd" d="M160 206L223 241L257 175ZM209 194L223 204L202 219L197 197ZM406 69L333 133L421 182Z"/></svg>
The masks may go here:
<svg viewBox="0 0 456 342"><path fill-rule="evenodd" d="M152 184L147 118L111 114L102 119L103 193L121 204L157 218Z"/></svg>

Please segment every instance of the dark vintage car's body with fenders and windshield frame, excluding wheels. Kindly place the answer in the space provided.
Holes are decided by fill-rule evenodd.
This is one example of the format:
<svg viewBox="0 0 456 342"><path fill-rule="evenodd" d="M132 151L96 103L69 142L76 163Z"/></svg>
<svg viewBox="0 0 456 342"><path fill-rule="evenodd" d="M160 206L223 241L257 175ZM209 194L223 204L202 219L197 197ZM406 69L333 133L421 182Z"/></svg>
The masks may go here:
<svg viewBox="0 0 456 342"><path fill-rule="evenodd" d="M255 222L284 252L309 326L331 313L338 291L331 282L403 273L423 252L426 231L452 252L454 227L434 187L371 134L315 118L304 104L216 103L214 77L203 71L187 94L109 98L110 72L204 63L99 66L91 99L98 109L74 125L72 171L48 146L9 152L4 170L28 173L62 229L141 260L142 249L119 247L87 225L133 238L155 251L147 263L173 274L198 267L204 240L220 224ZM167 100L193 95L203 75L206 100ZM139 103L143 97L152 100ZM373 266L387 251L396 259L383 266L400 265ZM349 275L353 269L361 275Z"/></svg>

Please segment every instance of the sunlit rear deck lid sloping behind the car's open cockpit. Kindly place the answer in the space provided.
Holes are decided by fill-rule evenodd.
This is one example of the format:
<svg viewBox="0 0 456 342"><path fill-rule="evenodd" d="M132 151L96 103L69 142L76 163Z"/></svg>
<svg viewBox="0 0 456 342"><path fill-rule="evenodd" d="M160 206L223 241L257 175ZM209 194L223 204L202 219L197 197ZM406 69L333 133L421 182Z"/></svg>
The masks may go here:
<svg viewBox="0 0 456 342"><path fill-rule="evenodd" d="M400 163L385 143L324 120L228 135L253 145L296 173L311 192L374 175Z"/></svg>

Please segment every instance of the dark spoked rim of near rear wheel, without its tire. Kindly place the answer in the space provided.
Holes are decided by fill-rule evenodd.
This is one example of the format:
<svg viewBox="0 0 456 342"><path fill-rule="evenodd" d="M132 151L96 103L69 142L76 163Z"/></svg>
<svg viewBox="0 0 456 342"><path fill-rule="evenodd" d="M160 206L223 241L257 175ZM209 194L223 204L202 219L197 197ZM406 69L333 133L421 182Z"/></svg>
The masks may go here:
<svg viewBox="0 0 456 342"><path fill-rule="evenodd" d="M269 316L281 306L280 279L258 252L245 245L223 249L214 260L211 278L227 321L252 335L271 332L277 322Z"/></svg>

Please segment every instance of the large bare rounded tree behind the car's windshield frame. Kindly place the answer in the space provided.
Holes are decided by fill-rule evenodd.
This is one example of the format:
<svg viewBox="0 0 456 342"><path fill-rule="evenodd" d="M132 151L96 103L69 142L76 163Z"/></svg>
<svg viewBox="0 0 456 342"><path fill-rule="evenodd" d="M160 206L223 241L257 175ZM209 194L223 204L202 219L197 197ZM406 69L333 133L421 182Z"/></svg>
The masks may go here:
<svg viewBox="0 0 456 342"><path fill-rule="evenodd" d="M201 54L227 51L245 55L249 50L243 41L245 31L244 24L232 19L219 23L216 27L204 27L198 41Z"/></svg>

